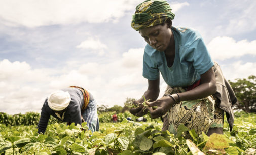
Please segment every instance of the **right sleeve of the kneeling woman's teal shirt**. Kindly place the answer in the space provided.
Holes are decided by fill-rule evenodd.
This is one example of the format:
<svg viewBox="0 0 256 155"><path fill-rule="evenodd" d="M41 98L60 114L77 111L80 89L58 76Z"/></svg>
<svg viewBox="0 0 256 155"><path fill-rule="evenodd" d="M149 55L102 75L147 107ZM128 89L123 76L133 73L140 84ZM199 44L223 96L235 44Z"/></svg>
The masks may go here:
<svg viewBox="0 0 256 155"><path fill-rule="evenodd" d="M200 75L208 71L214 65L202 38L198 38L191 44L185 59L186 61L193 62L195 70Z"/></svg>

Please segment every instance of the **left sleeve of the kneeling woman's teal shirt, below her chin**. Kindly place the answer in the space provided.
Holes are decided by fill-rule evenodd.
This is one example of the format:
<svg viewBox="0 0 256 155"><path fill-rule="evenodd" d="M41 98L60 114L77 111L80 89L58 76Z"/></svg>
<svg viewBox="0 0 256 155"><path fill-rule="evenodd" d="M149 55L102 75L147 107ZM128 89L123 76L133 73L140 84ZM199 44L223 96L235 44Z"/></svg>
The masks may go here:
<svg viewBox="0 0 256 155"><path fill-rule="evenodd" d="M151 48L150 45L145 46L143 56L143 77L148 80L157 80L159 78L159 69L157 63L154 62L155 49Z"/></svg>

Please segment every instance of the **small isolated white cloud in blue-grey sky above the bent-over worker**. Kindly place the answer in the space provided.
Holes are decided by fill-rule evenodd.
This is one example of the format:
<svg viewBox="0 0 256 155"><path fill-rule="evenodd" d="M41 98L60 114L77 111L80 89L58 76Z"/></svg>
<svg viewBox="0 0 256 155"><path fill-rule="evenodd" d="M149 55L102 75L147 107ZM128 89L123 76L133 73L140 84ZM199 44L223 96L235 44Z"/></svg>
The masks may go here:
<svg viewBox="0 0 256 155"><path fill-rule="evenodd" d="M100 56L105 53L104 49L107 49L105 44L101 43L100 40L95 40L94 38L88 38L76 47L80 49L91 49Z"/></svg>

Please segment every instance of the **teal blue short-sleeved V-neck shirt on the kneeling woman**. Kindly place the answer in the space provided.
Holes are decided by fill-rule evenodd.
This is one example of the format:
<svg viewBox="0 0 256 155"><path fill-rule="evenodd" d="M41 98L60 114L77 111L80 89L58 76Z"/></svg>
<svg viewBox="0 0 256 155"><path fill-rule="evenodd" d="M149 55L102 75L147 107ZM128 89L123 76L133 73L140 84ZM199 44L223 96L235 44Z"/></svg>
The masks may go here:
<svg viewBox="0 0 256 155"><path fill-rule="evenodd" d="M214 63L197 31L181 27L172 27L171 30L175 40L173 65L168 67L165 53L147 44L143 57L143 76L149 80L156 80L160 71L169 86L190 86Z"/></svg>

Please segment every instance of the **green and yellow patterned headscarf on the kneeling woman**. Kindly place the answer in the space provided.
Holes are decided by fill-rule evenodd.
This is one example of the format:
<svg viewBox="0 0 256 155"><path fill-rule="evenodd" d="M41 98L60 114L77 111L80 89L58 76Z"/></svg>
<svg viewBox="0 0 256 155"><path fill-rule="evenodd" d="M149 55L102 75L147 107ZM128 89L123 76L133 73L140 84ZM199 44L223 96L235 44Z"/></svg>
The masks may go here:
<svg viewBox="0 0 256 155"><path fill-rule="evenodd" d="M132 15L131 27L135 30L164 23L167 18L174 19L174 13L165 0L146 0L137 5Z"/></svg>

